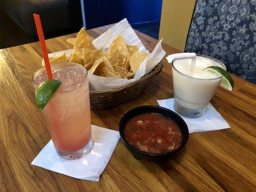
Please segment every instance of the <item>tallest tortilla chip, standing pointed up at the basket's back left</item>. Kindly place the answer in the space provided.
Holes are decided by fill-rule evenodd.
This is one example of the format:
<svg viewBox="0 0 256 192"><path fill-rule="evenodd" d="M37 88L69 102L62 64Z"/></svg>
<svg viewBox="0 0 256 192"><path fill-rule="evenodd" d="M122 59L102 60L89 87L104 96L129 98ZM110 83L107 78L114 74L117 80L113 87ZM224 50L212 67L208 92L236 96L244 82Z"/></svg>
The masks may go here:
<svg viewBox="0 0 256 192"><path fill-rule="evenodd" d="M76 53L79 57L84 57L84 49L89 50L97 50L89 36L85 32L85 28L83 27L76 36L75 44L74 44L74 53Z"/></svg>

